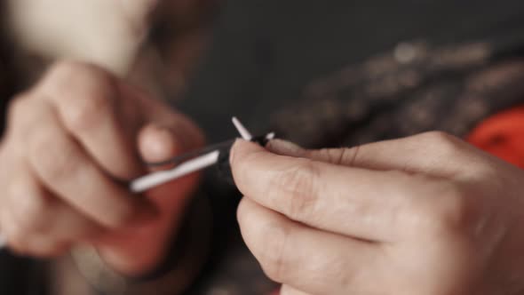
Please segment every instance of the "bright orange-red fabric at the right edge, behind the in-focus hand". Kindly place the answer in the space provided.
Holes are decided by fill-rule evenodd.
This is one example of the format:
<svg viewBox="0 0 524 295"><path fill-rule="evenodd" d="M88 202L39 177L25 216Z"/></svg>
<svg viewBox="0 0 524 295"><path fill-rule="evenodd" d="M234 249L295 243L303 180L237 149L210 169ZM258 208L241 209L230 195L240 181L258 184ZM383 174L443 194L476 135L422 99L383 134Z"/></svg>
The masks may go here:
<svg viewBox="0 0 524 295"><path fill-rule="evenodd" d="M489 117L472 131L467 140L524 168L524 105Z"/></svg>

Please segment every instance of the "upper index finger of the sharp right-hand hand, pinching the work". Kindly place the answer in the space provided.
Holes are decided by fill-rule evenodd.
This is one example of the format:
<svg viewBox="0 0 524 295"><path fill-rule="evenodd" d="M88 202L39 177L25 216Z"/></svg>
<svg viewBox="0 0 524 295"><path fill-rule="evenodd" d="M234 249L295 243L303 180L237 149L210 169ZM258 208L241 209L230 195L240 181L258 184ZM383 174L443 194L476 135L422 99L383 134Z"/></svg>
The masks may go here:
<svg viewBox="0 0 524 295"><path fill-rule="evenodd" d="M231 167L243 195L311 227L370 241L393 238L413 195L428 187L401 171L373 171L275 155L237 140Z"/></svg>

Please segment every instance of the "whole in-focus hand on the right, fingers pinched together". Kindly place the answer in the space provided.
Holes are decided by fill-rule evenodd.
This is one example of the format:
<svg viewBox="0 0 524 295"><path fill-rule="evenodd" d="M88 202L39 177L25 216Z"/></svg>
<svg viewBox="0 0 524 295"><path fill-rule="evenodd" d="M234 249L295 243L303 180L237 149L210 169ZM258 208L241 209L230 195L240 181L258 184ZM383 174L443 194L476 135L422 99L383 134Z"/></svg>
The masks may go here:
<svg viewBox="0 0 524 295"><path fill-rule="evenodd" d="M282 294L524 292L524 172L440 132L359 148L239 140L242 235Z"/></svg>

